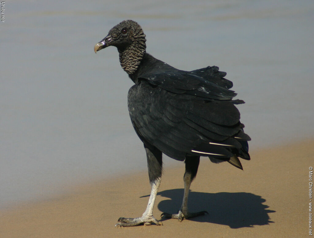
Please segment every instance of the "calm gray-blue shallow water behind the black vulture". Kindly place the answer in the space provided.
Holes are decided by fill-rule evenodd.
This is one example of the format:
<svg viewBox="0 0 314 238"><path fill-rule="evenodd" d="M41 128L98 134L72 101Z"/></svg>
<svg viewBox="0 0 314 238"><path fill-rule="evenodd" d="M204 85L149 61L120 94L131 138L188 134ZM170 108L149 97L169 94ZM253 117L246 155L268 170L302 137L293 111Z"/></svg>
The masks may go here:
<svg viewBox="0 0 314 238"><path fill-rule="evenodd" d="M6 2L0 207L146 168L127 111L132 81L115 48L93 52L124 19L141 24L156 58L228 73L251 149L313 137L313 10L304 0Z"/></svg>

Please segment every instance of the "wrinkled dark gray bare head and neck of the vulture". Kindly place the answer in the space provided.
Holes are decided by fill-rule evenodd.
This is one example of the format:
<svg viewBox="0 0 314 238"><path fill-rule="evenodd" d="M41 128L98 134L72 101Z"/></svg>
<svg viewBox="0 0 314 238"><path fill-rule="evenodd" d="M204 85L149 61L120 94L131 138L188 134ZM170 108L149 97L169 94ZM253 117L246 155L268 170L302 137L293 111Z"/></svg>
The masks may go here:
<svg viewBox="0 0 314 238"><path fill-rule="evenodd" d="M135 21L126 20L114 26L108 35L95 45L94 51L96 53L108 46L116 46L123 70L132 75L146 52L145 42L141 26Z"/></svg>

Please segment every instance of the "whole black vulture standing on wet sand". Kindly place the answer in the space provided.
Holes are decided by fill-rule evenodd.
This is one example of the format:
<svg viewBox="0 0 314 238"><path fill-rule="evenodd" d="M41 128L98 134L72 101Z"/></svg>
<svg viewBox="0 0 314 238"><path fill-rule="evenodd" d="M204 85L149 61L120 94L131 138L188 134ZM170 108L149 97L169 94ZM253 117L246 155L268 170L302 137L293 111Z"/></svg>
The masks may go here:
<svg viewBox="0 0 314 238"><path fill-rule="evenodd" d="M184 71L146 53L141 26L125 20L113 27L94 47L95 53L115 46L124 71L134 84L128 92L128 110L132 125L144 144L151 194L147 208L138 218L120 217L116 226L161 225L153 216L153 207L162 173L162 153L185 161L184 195L177 214L163 213L179 221L204 215L189 212L187 199L198 171L200 156L214 163L227 161L242 169L238 157L250 159L250 137L243 131L240 112L232 100L232 82L216 66Z"/></svg>

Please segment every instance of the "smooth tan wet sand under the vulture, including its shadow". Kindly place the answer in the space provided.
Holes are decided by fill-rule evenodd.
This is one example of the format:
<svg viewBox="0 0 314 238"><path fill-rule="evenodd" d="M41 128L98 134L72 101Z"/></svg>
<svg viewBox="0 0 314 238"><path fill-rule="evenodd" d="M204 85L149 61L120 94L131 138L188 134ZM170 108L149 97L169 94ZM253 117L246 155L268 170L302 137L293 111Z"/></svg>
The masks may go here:
<svg viewBox="0 0 314 238"><path fill-rule="evenodd" d="M189 209L207 210L209 215L181 223L163 220L162 226L114 227L120 216L141 216L146 208L150 186L147 172L141 172L2 211L0 237L308 236L308 174L314 164L314 140L250 154L251 161L241 160L244 171L229 163L201 160ZM165 168L154 207L157 219L162 212L180 207L183 173L181 162Z"/></svg>

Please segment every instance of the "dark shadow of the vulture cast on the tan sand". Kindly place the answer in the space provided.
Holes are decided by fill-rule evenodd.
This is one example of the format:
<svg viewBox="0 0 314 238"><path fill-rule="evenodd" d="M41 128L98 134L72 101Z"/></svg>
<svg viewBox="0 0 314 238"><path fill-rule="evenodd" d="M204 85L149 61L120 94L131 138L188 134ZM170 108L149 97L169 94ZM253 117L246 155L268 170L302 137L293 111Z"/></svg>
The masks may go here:
<svg viewBox="0 0 314 238"><path fill-rule="evenodd" d="M165 190L157 195L170 198L158 204L158 209L161 212L177 213L181 207L183 189ZM268 213L275 211L267 210L268 206L263 204L265 201L261 196L252 193L190 192L188 207L190 212L206 210L209 213L191 220L228 225L230 228L241 228L273 223L270 221Z"/></svg>

